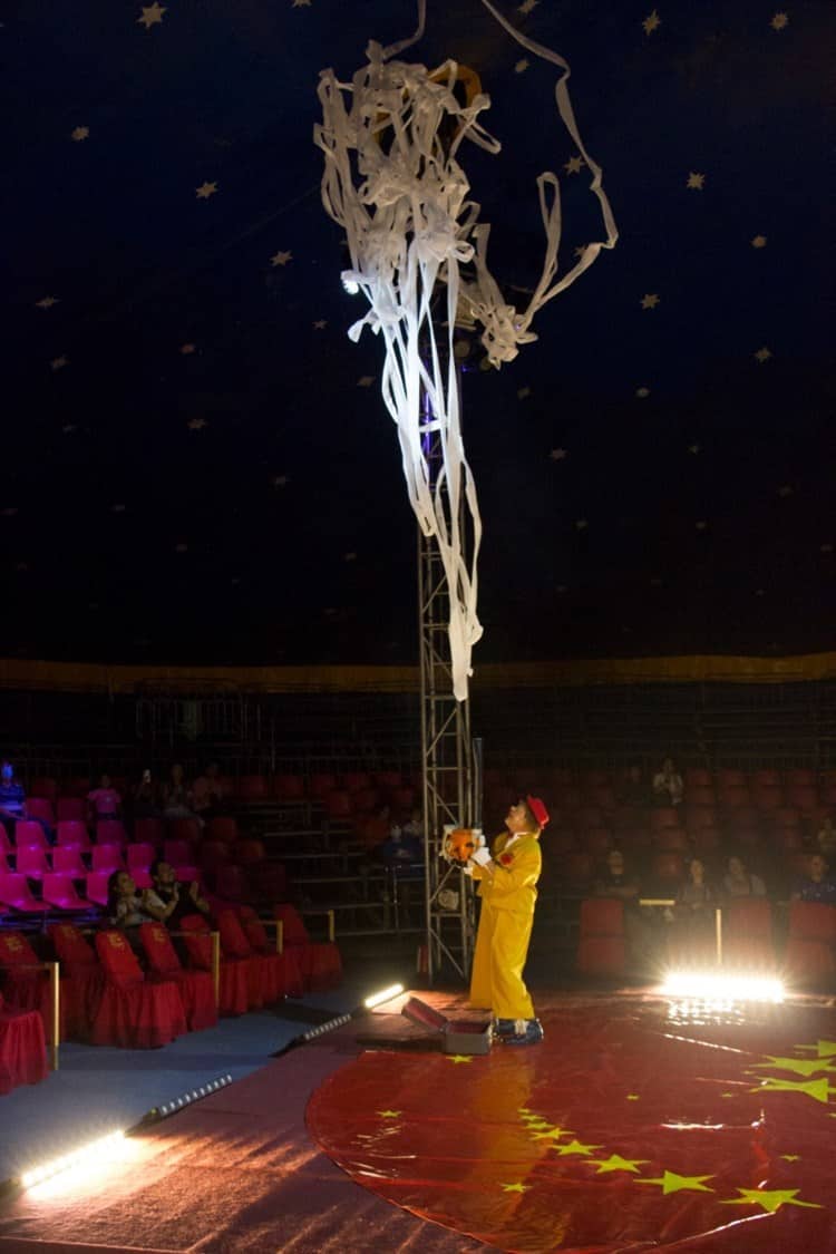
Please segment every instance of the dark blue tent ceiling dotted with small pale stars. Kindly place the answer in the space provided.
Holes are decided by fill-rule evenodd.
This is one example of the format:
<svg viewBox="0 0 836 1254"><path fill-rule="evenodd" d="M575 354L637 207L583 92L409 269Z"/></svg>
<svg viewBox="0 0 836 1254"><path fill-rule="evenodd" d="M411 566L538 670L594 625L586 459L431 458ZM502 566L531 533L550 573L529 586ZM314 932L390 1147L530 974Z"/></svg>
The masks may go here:
<svg viewBox="0 0 836 1254"><path fill-rule="evenodd" d="M461 162L494 272L525 291L540 171L563 268L599 229L555 70L479 0L427 10L405 58L480 74L503 152ZM569 60L620 238L515 362L466 359L476 666L832 645L831 11L503 6ZM416 658L382 347L346 336L363 310L312 143L318 71L350 79L415 23L412 0L13 6L8 656Z"/></svg>

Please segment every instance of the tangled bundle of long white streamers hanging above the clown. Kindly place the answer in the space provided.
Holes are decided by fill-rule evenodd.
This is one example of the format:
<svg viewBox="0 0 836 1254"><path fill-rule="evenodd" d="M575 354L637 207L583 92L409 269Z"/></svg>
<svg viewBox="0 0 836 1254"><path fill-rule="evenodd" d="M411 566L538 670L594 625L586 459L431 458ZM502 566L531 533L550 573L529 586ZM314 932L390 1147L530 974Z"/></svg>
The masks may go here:
<svg viewBox="0 0 836 1254"><path fill-rule="evenodd" d="M602 247L617 240L598 167L580 142L565 79L569 66L556 54L524 40L483 0L494 16L526 48L554 61L564 73L556 87L558 109L579 152L593 172L607 227L607 241L590 243L579 262L553 283L560 243L558 179L538 179L540 212L546 236L543 275L523 312L508 305L488 267L490 227L479 224L480 206L468 199L470 184L456 161L468 138L491 153L500 144L479 122L490 107L485 94L461 104L454 94L457 65L426 66L389 60L424 30L425 0L419 0L419 29L410 40L381 49L371 43L368 64L351 83L340 83L332 70L320 75L323 120L315 142L325 153L322 202L345 228L351 268L343 282L356 285L368 301L368 312L350 329L357 340L365 326L381 335L386 347L381 390L401 446L410 504L427 537L435 537L450 601L450 657L454 695L468 696L473 673L473 646L481 636L476 616L476 559L481 519L476 492L465 458L454 356L454 324L466 311L483 327L481 342L490 361L501 366L518 354L518 345L536 339L529 330L536 311L583 273ZM346 108L345 97L351 100ZM446 140L439 138L444 124ZM452 138L450 138L452 135ZM473 273L462 278L460 267ZM446 285L444 325L447 344L442 364L431 310L436 285ZM437 433L441 466L432 482L427 461L429 436ZM466 505L471 537L464 534L461 505Z"/></svg>

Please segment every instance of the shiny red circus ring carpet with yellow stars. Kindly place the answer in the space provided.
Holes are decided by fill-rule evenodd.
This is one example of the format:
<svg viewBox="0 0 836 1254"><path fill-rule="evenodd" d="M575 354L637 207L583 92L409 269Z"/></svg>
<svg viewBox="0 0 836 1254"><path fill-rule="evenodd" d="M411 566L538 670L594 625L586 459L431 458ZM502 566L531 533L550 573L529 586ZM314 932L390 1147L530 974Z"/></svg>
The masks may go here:
<svg viewBox="0 0 836 1254"><path fill-rule="evenodd" d="M376 1017L377 1043L311 1099L313 1137L366 1189L501 1250L836 1251L832 1001L538 1009L541 1045L470 1058Z"/></svg>

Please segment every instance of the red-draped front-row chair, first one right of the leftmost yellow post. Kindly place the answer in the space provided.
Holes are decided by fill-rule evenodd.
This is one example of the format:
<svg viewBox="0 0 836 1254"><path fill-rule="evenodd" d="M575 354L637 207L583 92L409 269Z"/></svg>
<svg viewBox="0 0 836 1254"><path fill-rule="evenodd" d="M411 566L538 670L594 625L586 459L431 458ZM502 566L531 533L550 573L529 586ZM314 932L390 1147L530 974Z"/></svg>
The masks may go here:
<svg viewBox="0 0 836 1254"><path fill-rule="evenodd" d="M95 949L107 989L93 1025L94 1045L155 1050L188 1031L179 987L168 979L147 979L122 932L97 932Z"/></svg>

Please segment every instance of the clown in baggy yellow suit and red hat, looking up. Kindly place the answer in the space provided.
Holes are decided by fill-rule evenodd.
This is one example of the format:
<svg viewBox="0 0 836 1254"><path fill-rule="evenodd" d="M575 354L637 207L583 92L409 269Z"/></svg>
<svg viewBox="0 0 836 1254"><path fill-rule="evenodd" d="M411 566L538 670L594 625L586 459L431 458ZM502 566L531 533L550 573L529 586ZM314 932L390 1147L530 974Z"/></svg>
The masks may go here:
<svg viewBox="0 0 836 1254"><path fill-rule="evenodd" d="M505 818L508 834L473 854L481 914L476 935L470 1004L490 1007L494 1035L504 1045L536 1045L543 1027L523 982L528 957L536 882L540 878L540 833L549 811L538 796L513 805Z"/></svg>

